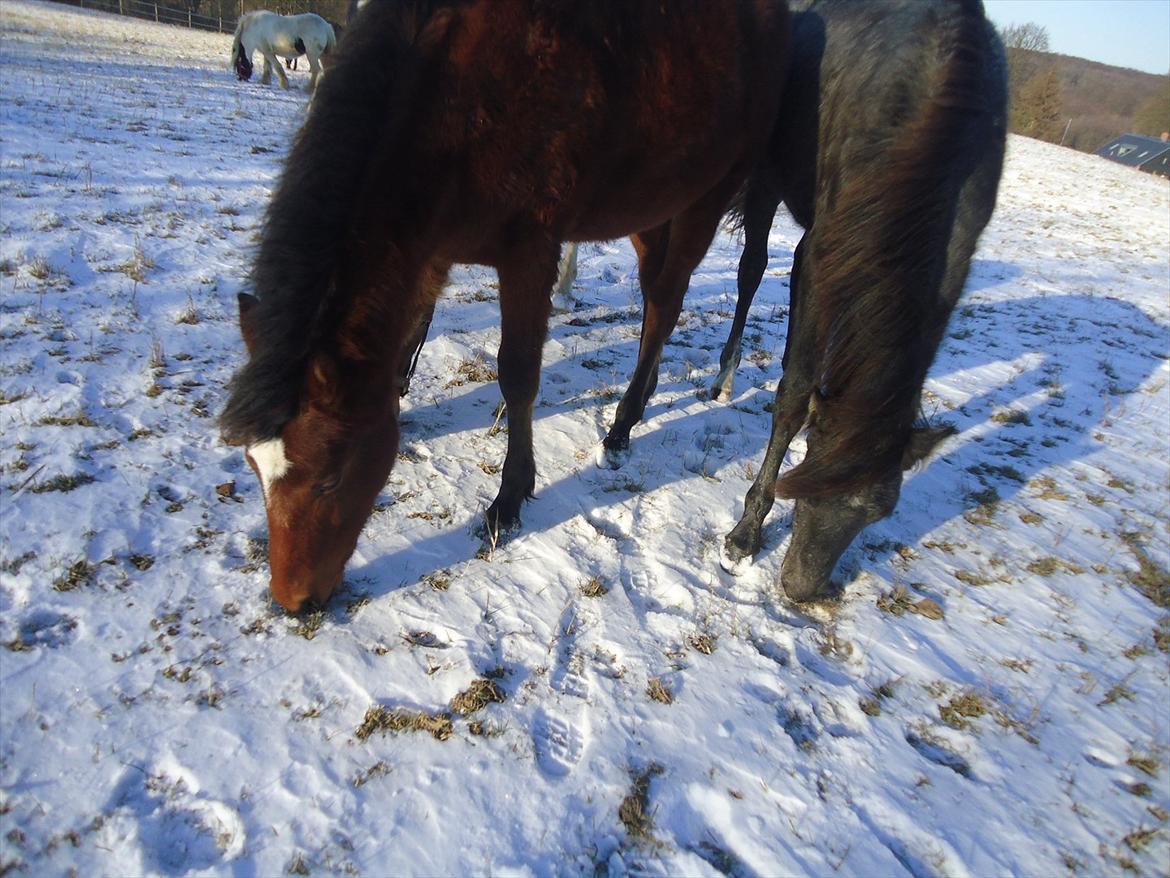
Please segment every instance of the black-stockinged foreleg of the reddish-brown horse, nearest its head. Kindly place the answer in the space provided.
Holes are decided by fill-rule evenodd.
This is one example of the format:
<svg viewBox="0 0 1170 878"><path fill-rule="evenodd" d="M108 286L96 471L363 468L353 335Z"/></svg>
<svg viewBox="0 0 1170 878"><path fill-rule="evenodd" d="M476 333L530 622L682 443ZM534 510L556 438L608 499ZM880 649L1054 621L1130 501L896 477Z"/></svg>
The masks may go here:
<svg viewBox="0 0 1170 878"><path fill-rule="evenodd" d="M557 280L559 247L526 248L498 266L500 390L508 406L508 455L500 494L484 514L484 544L519 527L519 507L536 489L532 406L541 386L541 352L549 329L549 290Z"/></svg>

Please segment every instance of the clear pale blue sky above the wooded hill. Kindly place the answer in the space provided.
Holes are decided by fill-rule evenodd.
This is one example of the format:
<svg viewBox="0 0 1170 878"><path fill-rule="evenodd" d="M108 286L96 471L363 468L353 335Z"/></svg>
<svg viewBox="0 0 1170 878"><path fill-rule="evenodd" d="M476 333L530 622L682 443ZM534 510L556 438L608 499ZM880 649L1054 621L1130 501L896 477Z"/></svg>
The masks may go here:
<svg viewBox="0 0 1170 878"><path fill-rule="evenodd" d="M1061 55L1170 71L1170 0L984 0L984 8L999 27L1042 25Z"/></svg>

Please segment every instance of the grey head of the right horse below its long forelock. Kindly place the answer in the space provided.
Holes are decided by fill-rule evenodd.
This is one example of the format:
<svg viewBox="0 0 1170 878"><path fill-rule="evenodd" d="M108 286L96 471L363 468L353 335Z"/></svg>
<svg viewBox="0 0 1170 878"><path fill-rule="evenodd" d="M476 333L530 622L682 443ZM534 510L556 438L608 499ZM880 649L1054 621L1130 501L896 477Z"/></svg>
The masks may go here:
<svg viewBox="0 0 1170 878"><path fill-rule="evenodd" d="M808 435L818 440L819 425ZM780 585L793 601L812 601L831 591L830 577L841 555L861 530L894 512L902 492L902 474L923 461L951 426L915 427L902 451L901 465L873 473L858 488L798 496L792 513L792 541L780 564ZM783 480L777 493L784 495Z"/></svg>

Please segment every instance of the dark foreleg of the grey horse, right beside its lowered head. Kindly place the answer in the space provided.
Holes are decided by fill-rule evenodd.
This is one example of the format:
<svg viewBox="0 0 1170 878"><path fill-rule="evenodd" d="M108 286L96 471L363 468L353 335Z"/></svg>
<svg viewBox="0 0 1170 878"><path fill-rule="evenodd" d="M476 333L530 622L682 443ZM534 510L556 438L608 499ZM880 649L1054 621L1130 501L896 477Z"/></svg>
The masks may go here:
<svg viewBox="0 0 1170 878"><path fill-rule="evenodd" d="M815 373L815 321L808 317L810 280L804 267L808 235L797 245L792 263L789 328L784 339L784 376L776 389L772 403L772 433L768 451L759 465L756 481L748 489L743 516L723 542L724 554L736 563L759 551L764 519L776 502L776 476L780 464L800 427L808 419L808 399L813 392Z"/></svg>

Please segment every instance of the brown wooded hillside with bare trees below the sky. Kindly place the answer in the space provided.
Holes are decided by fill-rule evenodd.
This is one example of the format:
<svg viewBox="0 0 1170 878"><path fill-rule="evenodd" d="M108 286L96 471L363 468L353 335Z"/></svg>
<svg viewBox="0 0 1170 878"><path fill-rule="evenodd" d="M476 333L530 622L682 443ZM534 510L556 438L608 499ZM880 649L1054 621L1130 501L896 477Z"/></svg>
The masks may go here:
<svg viewBox="0 0 1170 878"><path fill-rule="evenodd" d="M1002 36L1013 133L1094 152L1121 133L1170 131L1170 75L1053 54L1047 32L1031 22Z"/></svg>

